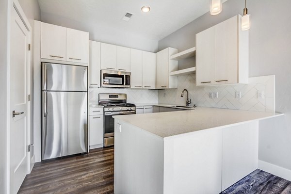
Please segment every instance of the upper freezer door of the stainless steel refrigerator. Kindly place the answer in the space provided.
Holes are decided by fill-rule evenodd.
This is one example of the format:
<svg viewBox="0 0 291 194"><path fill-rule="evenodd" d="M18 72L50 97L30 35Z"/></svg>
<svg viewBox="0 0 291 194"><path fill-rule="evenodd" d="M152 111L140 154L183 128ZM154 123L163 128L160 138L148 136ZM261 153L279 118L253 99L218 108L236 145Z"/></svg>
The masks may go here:
<svg viewBox="0 0 291 194"><path fill-rule="evenodd" d="M42 91L87 91L87 67L42 63Z"/></svg>

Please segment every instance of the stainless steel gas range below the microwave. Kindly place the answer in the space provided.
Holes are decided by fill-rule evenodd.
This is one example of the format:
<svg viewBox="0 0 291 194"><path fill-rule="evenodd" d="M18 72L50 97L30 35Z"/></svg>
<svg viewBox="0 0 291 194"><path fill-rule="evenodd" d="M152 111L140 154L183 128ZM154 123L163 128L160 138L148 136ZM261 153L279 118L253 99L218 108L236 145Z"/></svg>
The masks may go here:
<svg viewBox="0 0 291 194"><path fill-rule="evenodd" d="M135 105L127 103L126 94L99 94L99 104L104 106L104 147L114 145L113 115L135 114Z"/></svg>

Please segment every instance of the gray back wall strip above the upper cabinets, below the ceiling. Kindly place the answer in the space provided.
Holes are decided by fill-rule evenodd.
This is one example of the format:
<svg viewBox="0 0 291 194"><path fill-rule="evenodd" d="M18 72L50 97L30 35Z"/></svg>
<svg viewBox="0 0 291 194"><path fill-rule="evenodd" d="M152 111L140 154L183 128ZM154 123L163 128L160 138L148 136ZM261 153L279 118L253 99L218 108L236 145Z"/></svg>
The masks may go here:
<svg viewBox="0 0 291 194"><path fill-rule="evenodd" d="M89 32L90 40L98 42L109 43L133 49L141 49L150 52L155 52L158 50L157 40L151 40L130 32L116 34L116 32L113 30L111 33L104 33L103 29L100 28L96 23L89 23L87 21L79 22L63 16L56 16L45 12L41 12L41 21Z"/></svg>

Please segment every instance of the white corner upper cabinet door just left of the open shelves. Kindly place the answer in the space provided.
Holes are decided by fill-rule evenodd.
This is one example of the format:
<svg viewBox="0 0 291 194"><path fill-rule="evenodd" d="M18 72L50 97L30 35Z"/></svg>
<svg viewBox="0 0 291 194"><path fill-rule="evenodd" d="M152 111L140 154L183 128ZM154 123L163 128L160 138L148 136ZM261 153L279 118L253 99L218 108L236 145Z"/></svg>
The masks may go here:
<svg viewBox="0 0 291 194"><path fill-rule="evenodd" d="M157 52L157 89L168 88L169 79L169 49Z"/></svg>

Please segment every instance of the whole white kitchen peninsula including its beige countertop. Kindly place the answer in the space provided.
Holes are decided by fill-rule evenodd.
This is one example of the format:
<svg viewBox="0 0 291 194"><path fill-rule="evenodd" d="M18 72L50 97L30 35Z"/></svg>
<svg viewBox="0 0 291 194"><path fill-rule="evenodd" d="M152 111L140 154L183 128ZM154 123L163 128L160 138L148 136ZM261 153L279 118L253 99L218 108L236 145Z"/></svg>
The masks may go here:
<svg viewBox="0 0 291 194"><path fill-rule="evenodd" d="M219 194L258 168L259 120L196 107L115 118L115 194Z"/></svg>

